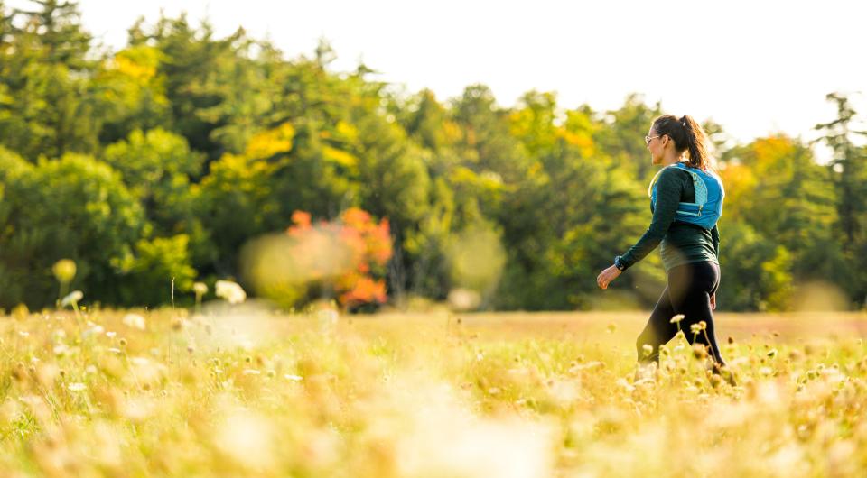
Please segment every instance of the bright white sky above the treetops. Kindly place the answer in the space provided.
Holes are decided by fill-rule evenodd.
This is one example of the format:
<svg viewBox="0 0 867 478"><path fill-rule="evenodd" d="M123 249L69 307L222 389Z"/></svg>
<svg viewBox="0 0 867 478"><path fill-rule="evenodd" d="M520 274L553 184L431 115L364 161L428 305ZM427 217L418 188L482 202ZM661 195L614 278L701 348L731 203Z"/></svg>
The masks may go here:
<svg viewBox="0 0 867 478"><path fill-rule="evenodd" d="M7 5L26 4L24 0ZM622 105L630 92L667 113L713 119L746 142L774 132L815 136L834 118L832 91L862 92L867 113L867 2L824 0L79 0L98 41L126 43L139 15L207 16L220 36L238 25L266 35L287 57L319 38L335 69L359 60L410 91L440 99L484 83L512 106L527 90L556 91L559 105Z"/></svg>

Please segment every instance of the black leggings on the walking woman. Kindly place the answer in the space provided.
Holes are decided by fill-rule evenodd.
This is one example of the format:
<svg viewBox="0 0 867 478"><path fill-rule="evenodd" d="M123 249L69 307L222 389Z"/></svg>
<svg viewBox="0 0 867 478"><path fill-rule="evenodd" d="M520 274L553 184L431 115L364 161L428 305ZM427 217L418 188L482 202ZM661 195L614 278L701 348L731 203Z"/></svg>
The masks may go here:
<svg viewBox="0 0 867 478"><path fill-rule="evenodd" d="M650 314L648 325L644 326L644 331L635 344L639 362L647 364L659 361L659 345L667 344L677 334L677 324L671 323L671 317L683 314L685 317L680 321L680 328L689 343L694 342L690 326L704 320L707 336L704 336L704 332L699 332L698 336L695 336L695 342L707 345L708 354L716 365L724 366L720 346L716 344L711 311L711 296L718 287L720 266L714 262L690 262L668 271L668 286L662 291L657 307ZM653 352L646 354L644 345L653 346Z"/></svg>

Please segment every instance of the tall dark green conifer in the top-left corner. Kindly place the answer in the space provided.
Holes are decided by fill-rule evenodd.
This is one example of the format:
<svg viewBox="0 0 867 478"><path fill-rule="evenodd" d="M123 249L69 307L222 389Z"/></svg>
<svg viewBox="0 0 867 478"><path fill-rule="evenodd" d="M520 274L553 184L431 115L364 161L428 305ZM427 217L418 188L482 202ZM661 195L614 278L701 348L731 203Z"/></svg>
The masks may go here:
<svg viewBox="0 0 867 478"><path fill-rule="evenodd" d="M0 51L0 143L30 161L98 149L97 102L89 89L89 34L73 2L18 10L23 28ZM14 24L14 23L7 23Z"/></svg>

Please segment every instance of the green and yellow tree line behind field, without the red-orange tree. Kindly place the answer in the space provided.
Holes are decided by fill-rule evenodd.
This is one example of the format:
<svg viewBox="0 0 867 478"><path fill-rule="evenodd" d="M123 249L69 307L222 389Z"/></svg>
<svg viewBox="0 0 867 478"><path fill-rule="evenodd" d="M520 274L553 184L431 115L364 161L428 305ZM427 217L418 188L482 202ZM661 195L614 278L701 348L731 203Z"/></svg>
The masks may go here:
<svg viewBox="0 0 867 478"><path fill-rule="evenodd" d="M656 301L657 253L606 296L595 277L649 224L643 136L660 104L565 109L529 91L500 106L484 85L442 99L334 58L322 41L287 59L183 14L140 19L110 51L75 2L0 0L0 307L53 304L64 258L78 265L70 286L103 304L169 303L172 278L189 297L196 280L244 284L245 244L299 211L350 208L388 221L378 273L397 304L457 289L493 309ZM721 308L791 308L813 282L864 306L867 149L849 99L827 99L828 164L801 138L739 144L705 122L727 192Z"/></svg>

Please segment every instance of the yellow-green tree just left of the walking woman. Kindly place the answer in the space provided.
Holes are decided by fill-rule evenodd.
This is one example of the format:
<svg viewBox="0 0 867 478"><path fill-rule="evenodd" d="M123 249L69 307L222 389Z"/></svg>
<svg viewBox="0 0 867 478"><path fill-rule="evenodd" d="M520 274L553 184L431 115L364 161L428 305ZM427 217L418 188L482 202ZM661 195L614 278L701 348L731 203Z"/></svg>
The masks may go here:
<svg viewBox="0 0 867 478"><path fill-rule="evenodd" d="M600 152L602 124L590 108L566 112L558 124L553 96L531 93L522 104L512 133L536 165L504 207L510 261L500 305L589 308L595 275L646 225L641 187L629 165Z"/></svg>

